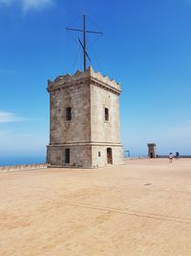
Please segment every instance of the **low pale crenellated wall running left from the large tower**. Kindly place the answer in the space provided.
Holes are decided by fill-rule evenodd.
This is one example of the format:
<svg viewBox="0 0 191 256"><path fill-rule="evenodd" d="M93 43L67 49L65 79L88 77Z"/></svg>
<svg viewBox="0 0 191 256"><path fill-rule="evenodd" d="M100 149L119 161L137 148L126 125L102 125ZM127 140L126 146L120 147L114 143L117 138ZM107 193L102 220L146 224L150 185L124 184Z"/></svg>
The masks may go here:
<svg viewBox="0 0 191 256"><path fill-rule="evenodd" d="M47 168L47 164L30 164L30 165L12 165L12 166L0 166L0 173L6 172L18 172L18 171L30 171L34 169Z"/></svg>

